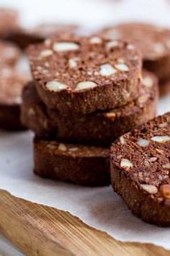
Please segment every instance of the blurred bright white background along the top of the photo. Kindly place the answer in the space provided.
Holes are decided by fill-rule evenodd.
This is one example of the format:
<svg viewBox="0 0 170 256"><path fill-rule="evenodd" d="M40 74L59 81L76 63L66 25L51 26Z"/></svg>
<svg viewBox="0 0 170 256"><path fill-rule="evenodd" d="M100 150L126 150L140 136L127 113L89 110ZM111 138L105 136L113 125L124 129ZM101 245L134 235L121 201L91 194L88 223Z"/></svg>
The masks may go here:
<svg viewBox="0 0 170 256"><path fill-rule="evenodd" d="M169 0L0 0L15 7L24 25L38 22L79 22L96 27L126 20L170 25Z"/></svg>

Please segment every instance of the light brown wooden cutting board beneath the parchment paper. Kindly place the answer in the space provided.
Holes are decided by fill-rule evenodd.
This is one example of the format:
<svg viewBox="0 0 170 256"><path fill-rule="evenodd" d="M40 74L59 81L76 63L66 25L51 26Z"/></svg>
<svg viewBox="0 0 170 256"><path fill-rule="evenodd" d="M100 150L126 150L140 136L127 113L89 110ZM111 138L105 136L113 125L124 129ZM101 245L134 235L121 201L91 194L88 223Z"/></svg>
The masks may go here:
<svg viewBox="0 0 170 256"><path fill-rule="evenodd" d="M1 189L0 232L31 256L170 255L153 244L118 242L70 213L13 197Z"/></svg>

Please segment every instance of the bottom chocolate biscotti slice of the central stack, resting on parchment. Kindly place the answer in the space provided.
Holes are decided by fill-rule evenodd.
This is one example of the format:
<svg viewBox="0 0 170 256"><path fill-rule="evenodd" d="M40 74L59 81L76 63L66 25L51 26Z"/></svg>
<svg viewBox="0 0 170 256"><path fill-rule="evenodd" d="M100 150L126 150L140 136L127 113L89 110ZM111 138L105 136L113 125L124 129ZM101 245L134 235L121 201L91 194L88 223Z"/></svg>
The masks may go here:
<svg viewBox="0 0 170 256"><path fill-rule="evenodd" d="M109 149L34 140L35 174L84 186L110 184Z"/></svg>

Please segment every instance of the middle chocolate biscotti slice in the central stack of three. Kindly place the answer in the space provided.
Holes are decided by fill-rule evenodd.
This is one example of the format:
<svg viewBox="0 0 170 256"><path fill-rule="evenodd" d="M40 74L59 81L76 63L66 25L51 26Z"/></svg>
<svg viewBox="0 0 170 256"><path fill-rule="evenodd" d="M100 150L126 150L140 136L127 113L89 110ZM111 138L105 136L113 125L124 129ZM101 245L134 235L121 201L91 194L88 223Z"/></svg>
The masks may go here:
<svg viewBox="0 0 170 256"><path fill-rule="evenodd" d="M82 116L63 116L42 103L34 82L30 82L22 94L22 122L38 137L109 145L120 135L156 115L157 79L150 72L143 72L142 83L138 98L126 106Z"/></svg>

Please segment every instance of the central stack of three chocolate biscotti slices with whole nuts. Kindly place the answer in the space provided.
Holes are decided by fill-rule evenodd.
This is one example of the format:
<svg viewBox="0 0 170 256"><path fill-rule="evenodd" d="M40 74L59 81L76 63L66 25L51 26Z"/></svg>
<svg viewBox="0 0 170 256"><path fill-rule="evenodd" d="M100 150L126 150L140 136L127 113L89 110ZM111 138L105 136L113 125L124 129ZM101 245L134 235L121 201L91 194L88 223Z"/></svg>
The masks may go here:
<svg viewBox="0 0 170 256"><path fill-rule="evenodd" d="M27 49L33 81L22 122L35 132L35 173L64 182L110 183L109 145L156 114L156 77L131 43L63 36Z"/></svg>

